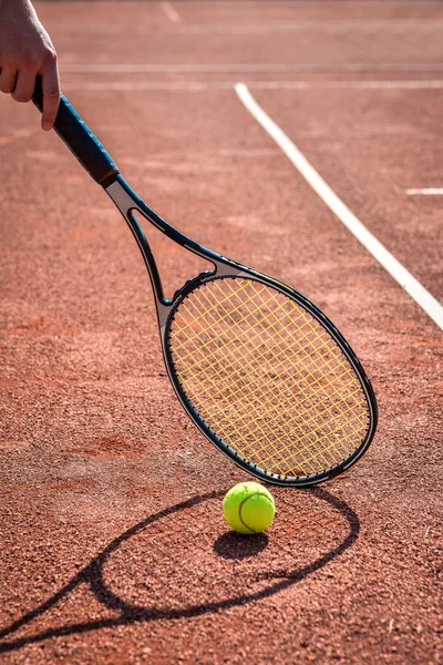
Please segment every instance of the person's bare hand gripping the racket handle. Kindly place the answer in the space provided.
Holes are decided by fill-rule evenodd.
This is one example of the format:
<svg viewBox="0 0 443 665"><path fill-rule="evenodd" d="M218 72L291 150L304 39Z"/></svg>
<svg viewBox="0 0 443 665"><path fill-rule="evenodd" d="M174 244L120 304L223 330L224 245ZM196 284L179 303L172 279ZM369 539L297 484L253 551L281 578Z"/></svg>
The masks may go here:
<svg viewBox="0 0 443 665"><path fill-rule="evenodd" d="M40 75L42 129L51 130L59 110L56 53L30 0L0 0L0 91L29 102Z"/></svg>

